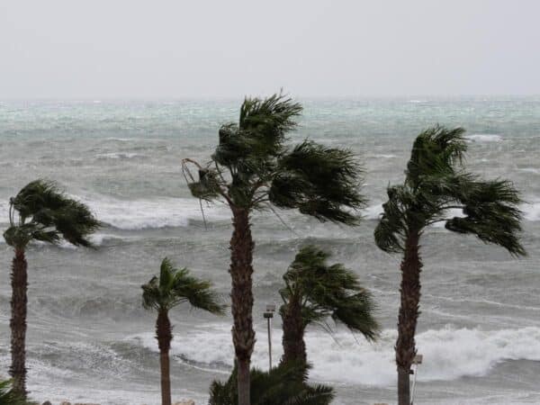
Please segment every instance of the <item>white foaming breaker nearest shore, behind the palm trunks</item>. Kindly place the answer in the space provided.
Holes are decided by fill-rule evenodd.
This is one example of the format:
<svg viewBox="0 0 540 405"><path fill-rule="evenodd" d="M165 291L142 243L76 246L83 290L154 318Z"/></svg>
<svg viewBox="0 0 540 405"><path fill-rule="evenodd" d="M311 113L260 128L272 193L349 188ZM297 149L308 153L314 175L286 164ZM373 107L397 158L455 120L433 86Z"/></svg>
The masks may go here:
<svg viewBox="0 0 540 405"><path fill-rule="evenodd" d="M259 333L264 333L262 332ZM229 326L189 331L176 329L172 353L180 361L193 362L215 369L231 367L233 347ZM395 383L394 364L395 330L384 330L376 344L364 338L353 338L345 331L335 338L320 331L306 334L308 357L313 365L311 378L317 381L360 383L390 386ZM267 368L266 339L260 338L253 354L253 365ZM128 338L139 345L157 351L156 339L151 333ZM281 333L274 331L274 341L281 341ZM419 381L449 381L464 376L488 374L497 364L507 360L540 361L540 328L501 329L437 329L420 333L417 337L419 353L424 364ZM274 358L282 356L282 347L275 344ZM227 368L224 369L225 371Z"/></svg>

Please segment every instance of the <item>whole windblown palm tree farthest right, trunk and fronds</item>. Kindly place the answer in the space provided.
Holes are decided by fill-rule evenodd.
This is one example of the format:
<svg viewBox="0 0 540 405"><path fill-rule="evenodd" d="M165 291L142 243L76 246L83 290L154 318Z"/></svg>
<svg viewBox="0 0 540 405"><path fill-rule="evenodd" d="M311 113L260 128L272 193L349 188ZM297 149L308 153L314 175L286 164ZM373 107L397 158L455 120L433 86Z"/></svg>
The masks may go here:
<svg viewBox="0 0 540 405"><path fill-rule="evenodd" d="M389 186L388 201L374 232L377 246L401 253L401 306L396 363L400 405L410 404L410 365L416 355L419 317L420 238L428 226L444 221L446 229L473 234L485 243L505 247L513 256L525 255L518 191L506 180L483 181L464 171L467 143L464 130L436 126L414 142L403 184ZM455 217L453 209L464 216Z"/></svg>

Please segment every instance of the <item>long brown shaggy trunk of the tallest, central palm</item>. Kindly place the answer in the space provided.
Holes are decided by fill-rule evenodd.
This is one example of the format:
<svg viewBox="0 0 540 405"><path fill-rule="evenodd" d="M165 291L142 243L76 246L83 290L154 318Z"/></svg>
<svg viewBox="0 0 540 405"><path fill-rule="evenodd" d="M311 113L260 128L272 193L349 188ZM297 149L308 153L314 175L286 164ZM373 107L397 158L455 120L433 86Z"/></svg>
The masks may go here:
<svg viewBox="0 0 540 405"><path fill-rule="evenodd" d="M230 292L231 311L234 320L232 342L238 365L238 405L249 405L249 367L255 345L253 330L253 239L249 224L249 211L231 207L233 232L230 238L230 268L232 280Z"/></svg>

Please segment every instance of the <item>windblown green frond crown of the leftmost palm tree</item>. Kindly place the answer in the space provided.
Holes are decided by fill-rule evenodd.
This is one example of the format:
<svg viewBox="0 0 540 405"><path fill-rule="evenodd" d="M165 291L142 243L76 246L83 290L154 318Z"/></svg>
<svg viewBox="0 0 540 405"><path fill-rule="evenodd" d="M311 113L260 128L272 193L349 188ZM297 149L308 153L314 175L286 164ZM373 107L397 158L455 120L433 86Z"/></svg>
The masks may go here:
<svg viewBox="0 0 540 405"><path fill-rule="evenodd" d="M9 221L4 238L17 248L26 247L31 240L57 244L62 238L75 246L90 247L88 235L101 226L84 203L68 198L56 184L45 180L27 184L10 200Z"/></svg>

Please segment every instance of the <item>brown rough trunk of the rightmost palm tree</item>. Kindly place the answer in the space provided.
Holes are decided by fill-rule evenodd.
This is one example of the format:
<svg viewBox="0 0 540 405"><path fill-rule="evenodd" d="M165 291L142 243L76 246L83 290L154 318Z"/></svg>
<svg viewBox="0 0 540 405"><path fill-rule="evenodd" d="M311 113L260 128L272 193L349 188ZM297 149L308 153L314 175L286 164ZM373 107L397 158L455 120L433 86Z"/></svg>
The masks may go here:
<svg viewBox="0 0 540 405"><path fill-rule="evenodd" d="M417 321L420 302L419 232L410 232L401 261L401 307L398 319L396 364L398 365L398 404L410 405L410 366L416 356Z"/></svg>

